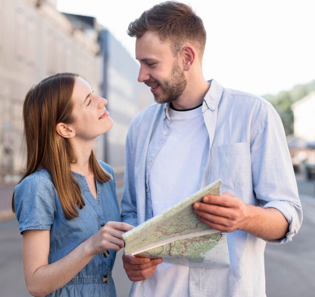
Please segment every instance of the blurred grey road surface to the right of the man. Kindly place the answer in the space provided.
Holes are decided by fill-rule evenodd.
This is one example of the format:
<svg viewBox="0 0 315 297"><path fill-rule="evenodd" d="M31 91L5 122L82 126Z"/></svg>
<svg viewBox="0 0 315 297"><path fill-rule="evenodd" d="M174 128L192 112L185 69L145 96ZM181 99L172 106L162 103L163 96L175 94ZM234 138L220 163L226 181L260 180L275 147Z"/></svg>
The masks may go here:
<svg viewBox="0 0 315 297"><path fill-rule="evenodd" d="M303 209L302 226L292 242L267 244L265 250L268 297L315 295L315 181L297 176Z"/></svg>

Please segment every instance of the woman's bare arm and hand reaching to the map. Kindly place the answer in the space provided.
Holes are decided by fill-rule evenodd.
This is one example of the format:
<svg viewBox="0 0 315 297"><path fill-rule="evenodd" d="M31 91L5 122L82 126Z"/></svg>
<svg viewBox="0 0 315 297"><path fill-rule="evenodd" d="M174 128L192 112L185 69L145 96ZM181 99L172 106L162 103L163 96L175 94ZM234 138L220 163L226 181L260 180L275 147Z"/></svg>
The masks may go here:
<svg viewBox="0 0 315 297"><path fill-rule="evenodd" d="M78 245L58 261L48 264L49 230L23 232L23 264L26 285L34 296L45 296L70 281L97 254L119 251L122 234L134 228L123 222L109 221L97 234Z"/></svg>

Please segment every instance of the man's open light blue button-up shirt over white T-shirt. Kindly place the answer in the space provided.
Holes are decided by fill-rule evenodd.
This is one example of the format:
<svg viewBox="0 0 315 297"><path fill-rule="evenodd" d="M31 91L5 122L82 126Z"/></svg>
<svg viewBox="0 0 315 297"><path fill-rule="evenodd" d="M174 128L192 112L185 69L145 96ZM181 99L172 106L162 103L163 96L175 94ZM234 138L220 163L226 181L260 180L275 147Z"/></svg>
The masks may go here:
<svg viewBox="0 0 315 297"><path fill-rule="evenodd" d="M215 80L209 84L202 105L209 141L200 168L200 187L221 178L222 192L239 196L246 204L278 209L289 222L289 231L285 238L272 242L286 243L300 228L302 210L281 119L263 98L225 89ZM148 160L153 160L169 135L168 109L168 104L145 108L128 131L122 220L134 226L152 217L148 186L152 162ZM235 231L227 234L227 244L230 269L191 267L189 295L265 296L266 242ZM144 296L142 282L133 283L131 295Z"/></svg>

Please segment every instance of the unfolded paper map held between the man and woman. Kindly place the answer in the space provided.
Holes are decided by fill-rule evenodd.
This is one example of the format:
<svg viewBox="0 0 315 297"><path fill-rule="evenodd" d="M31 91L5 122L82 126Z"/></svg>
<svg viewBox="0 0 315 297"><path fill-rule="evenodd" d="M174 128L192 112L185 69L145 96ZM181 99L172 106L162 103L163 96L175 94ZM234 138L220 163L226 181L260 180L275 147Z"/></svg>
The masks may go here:
<svg viewBox="0 0 315 297"><path fill-rule="evenodd" d="M229 268L226 234L209 228L193 212L205 195L220 195L218 180L123 234L126 255L163 258L178 265Z"/></svg>

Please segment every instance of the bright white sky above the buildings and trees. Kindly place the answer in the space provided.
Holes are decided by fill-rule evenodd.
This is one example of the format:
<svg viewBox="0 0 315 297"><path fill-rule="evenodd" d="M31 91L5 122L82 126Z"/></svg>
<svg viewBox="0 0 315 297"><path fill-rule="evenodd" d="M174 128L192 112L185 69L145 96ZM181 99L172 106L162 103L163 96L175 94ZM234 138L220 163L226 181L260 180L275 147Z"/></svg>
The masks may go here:
<svg viewBox="0 0 315 297"><path fill-rule="evenodd" d="M93 16L134 58L129 23L161 1L58 0L61 12ZM206 80L256 95L315 80L313 0L182 0L207 32Z"/></svg>

